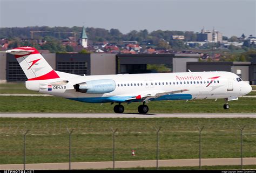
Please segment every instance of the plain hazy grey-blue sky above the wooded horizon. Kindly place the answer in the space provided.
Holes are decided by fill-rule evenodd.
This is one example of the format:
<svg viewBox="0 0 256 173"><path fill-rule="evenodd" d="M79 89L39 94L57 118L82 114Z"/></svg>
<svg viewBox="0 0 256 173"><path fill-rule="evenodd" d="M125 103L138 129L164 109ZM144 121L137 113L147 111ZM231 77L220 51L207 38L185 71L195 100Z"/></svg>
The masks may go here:
<svg viewBox="0 0 256 173"><path fill-rule="evenodd" d="M218 30L256 35L256 0L0 0L0 27Z"/></svg>

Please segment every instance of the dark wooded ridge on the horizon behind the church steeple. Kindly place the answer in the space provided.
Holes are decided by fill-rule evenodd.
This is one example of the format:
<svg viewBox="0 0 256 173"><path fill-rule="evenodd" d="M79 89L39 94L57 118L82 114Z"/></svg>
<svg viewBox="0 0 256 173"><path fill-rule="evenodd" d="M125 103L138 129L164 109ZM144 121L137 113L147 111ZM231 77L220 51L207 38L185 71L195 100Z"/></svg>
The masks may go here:
<svg viewBox="0 0 256 173"><path fill-rule="evenodd" d="M74 36L76 33L76 39L80 37L82 27L49 27L49 26L28 26L28 27L2 27L0 28L0 38L8 39L31 39L31 32L33 32L33 39L43 39L44 37L52 37L56 39L66 39ZM43 31L43 32L42 32ZM182 35L185 37L184 41L196 41L197 33L193 31L152 31L149 32L146 29L140 31L130 31L129 33L122 33L118 29L102 29L87 27L87 36L89 40L97 43L102 41L108 41L110 43L119 43L120 41L138 41L139 44L153 44L157 45L159 40L165 40L171 42L172 35Z"/></svg>

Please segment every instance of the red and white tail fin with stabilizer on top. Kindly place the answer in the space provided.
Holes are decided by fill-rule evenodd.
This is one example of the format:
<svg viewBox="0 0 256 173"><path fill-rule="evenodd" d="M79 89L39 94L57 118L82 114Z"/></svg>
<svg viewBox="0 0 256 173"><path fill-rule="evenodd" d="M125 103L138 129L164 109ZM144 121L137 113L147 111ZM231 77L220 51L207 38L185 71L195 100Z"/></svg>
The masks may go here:
<svg viewBox="0 0 256 173"><path fill-rule="evenodd" d="M6 51L15 55L28 80L56 79L59 75L33 47L17 47Z"/></svg>

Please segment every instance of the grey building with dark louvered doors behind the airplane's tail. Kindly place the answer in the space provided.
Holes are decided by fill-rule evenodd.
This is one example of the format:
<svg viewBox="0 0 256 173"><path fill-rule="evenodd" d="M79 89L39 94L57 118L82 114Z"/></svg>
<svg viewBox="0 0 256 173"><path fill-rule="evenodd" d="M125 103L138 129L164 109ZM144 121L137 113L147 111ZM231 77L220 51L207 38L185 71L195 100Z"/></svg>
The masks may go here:
<svg viewBox="0 0 256 173"><path fill-rule="evenodd" d="M78 75L116 74L116 54L42 53L57 71ZM27 80L14 55L0 53L0 82Z"/></svg>

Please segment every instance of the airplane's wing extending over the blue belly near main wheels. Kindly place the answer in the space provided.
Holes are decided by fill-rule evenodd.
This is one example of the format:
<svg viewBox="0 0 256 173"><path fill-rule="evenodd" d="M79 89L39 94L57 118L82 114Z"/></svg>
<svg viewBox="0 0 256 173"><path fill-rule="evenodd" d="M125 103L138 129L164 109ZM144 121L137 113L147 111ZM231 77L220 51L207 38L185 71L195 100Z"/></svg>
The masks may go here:
<svg viewBox="0 0 256 173"><path fill-rule="evenodd" d="M156 99L159 98L159 96L162 95L169 95L169 94L176 94L176 93L183 93L185 91L188 91L188 89L180 89L177 91L170 91L170 92L161 92L161 91L155 91L148 94L139 94L137 96L133 96L132 98L127 99L127 102L132 102L133 100L140 100L142 99L145 102L149 102L150 99Z"/></svg>

